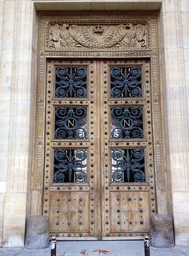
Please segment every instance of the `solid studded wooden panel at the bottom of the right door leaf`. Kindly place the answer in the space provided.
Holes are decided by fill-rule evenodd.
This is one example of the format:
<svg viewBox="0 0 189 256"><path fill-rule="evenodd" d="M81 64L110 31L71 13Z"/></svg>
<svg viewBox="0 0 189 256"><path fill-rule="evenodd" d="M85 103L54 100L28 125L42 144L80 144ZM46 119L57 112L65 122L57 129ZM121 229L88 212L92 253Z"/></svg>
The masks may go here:
<svg viewBox="0 0 189 256"><path fill-rule="evenodd" d="M110 201L111 233L149 231L148 191L111 192Z"/></svg>

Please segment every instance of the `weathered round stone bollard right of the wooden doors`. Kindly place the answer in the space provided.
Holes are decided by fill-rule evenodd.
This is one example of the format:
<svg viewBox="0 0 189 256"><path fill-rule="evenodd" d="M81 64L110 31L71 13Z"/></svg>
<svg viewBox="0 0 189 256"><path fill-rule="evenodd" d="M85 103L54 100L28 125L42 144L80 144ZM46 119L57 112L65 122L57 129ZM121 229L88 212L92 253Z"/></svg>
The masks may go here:
<svg viewBox="0 0 189 256"><path fill-rule="evenodd" d="M174 246L173 220L170 215L156 214L151 217L151 246Z"/></svg>

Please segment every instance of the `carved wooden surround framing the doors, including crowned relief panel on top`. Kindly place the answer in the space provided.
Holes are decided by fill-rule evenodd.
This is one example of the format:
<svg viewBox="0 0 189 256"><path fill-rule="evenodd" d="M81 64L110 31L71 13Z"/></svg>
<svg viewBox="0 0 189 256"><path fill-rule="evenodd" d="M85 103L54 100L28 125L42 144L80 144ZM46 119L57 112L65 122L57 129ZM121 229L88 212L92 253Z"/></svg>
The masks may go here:
<svg viewBox="0 0 189 256"><path fill-rule="evenodd" d="M141 38L139 38L136 31L136 27L139 27L139 25L140 29L143 30L143 32L141 32ZM52 35L53 26L58 30L57 38L55 35L54 37ZM82 31L82 26L85 27L84 32ZM113 26L113 30L111 30L111 26ZM131 26L132 28L134 27L134 29L131 30ZM129 27L129 33L126 31L127 27ZM119 39L115 36L117 35L116 33L118 33L118 28L121 29L120 33L122 34L119 35ZM63 30L64 32L66 30L66 34L63 34ZM74 36L73 31L75 32L75 30L77 30L77 36ZM86 31L90 31L90 36L92 35L91 38L94 39L94 43L91 43L91 38L85 38ZM106 36L104 34L105 31L107 31ZM127 42L128 34L131 35L133 44ZM65 39L65 36L67 36L68 39L64 44L61 40ZM110 39L109 41L107 40L108 43L103 43L103 40L107 38ZM52 41L57 43L55 47L52 47ZM78 45L75 45L75 42L77 42ZM141 42L143 43L143 47L141 46ZM120 43L123 44L120 46ZM162 89L159 76L158 12L108 11L104 13L102 11L93 11L88 12L88 14L83 12L38 12L38 97L36 102L35 148L31 189L34 191L37 190L40 193L42 193L43 189L43 168L45 166L43 161L45 147L45 102L42 99L45 99L46 93L46 59L50 58L151 59L151 104L153 109L155 181L157 197L161 197L161 191L167 191L167 178L164 171L165 164L163 159L163 103L161 99ZM42 205L39 205L38 213L41 213L41 211Z"/></svg>

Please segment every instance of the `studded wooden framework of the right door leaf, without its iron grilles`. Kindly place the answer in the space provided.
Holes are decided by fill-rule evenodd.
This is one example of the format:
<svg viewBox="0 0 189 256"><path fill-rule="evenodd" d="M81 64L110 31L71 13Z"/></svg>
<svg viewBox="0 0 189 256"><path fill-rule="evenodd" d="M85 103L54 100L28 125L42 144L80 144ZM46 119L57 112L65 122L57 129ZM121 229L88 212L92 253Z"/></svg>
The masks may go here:
<svg viewBox="0 0 189 256"><path fill-rule="evenodd" d="M102 61L101 70L101 156L102 158L102 202L103 202L103 237L143 236L150 230L150 215L156 212L154 169L151 166L153 148L151 147L151 86L150 62L135 61ZM110 67L141 67L143 98L135 100L111 99ZM105 72L104 72L105 71ZM107 83L106 83L107 81ZM107 93L105 93L107 91ZM143 139L111 139L111 107L143 107ZM105 111L105 112L104 112ZM107 111L107 112L106 112ZM104 114L106 113L106 114ZM107 135L106 135L107 131ZM112 183L111 182L111 148L144 148L147 181L145 183ZM151 166L151 167L150 167ZM153 197L153 201L150 198ZM142 211L143 210L143 211Z"/></svg>

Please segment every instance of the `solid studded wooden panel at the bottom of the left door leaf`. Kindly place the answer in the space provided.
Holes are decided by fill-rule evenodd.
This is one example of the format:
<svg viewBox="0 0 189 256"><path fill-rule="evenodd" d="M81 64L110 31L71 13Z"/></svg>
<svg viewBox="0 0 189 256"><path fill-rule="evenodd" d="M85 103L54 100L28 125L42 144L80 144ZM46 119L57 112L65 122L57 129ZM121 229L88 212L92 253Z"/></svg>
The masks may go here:
<svg viewBox="0 0 189 256"><path fill-rule="evenodd" d="M89 192L80 191L51 193L50 230L55 227L60 233L89 233L89 197Z"/></svg>

